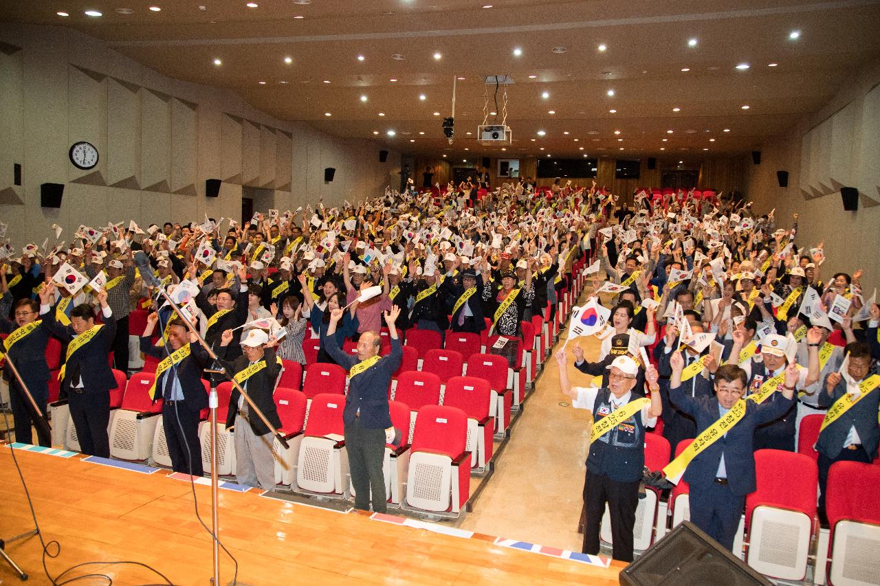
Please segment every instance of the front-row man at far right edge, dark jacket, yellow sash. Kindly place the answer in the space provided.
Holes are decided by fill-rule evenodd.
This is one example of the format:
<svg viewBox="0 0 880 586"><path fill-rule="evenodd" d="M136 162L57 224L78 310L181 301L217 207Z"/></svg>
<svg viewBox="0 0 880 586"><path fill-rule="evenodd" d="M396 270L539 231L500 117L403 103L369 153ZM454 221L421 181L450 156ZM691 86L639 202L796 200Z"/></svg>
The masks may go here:
<svg viewBox="0 0 880 586"><path fill-rule="evenodd" d="M823 422L816 448L819 452L819 509L825 509L825 485L828 469L834 462L873 462L880 443L880 427L877 425L877 408L880 407L878 381L871 377L871 351L867 344L847 344L846 370L832 372L825 377L825 391L818 397L821 408L830 408L844 395L855 400L852 407L833 421ZM846 401L847 399L844 399ZM841 404L840 407L843 407ZM826 421L836 409L830 409Z"/></svg>

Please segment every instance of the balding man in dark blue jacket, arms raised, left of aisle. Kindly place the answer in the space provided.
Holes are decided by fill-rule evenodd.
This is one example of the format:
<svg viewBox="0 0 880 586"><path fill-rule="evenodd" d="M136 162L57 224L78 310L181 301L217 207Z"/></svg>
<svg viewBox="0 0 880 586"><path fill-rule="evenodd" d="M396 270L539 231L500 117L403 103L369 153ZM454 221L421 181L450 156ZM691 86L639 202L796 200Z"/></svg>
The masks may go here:
<svg viewBox="0 0 880 586"><path fill-rule="evenodd" d="M330 314L330 325L321 344L342 368L348 369L348 395L345 398L345 446L348 451L348 470L355 487L355 507L370 510L370 492L373 511L385 513L385 443L391 443L394 429L388 408L388 388L394 371L400 367L403 350L394 322L400 307L392 305L385 311L385 323L391 335L391 355L380 357L382 338L378 332L363 332L357 341L357 355L349 355L336 344L326 343L324 337L336 332L336 324L344 311L335 309Z"/></svg>

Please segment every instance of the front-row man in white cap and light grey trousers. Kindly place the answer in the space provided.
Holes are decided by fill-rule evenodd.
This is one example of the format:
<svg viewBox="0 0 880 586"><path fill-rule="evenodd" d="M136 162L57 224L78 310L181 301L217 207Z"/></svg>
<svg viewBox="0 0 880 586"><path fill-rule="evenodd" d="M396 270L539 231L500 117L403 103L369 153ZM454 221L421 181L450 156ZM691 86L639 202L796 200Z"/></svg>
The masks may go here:
<svg viewBox="0 0 880 586"><path fill-rule="evenodd" d="M232 330L222 334L221 353L231 357ZM262 330L251 330L241 341L243 355L234 363L225 363L235 380L247 392L266 419L275 429L281 427L281 419L275 409L275 385L281 375L281 359L275 357L278 341L269 338ZM218 353L219 354L219 353ZM232 388L226 428L235 427L235 480L246 487L275 490L275 459L272 457L272 432L241 396Z"/></svg>

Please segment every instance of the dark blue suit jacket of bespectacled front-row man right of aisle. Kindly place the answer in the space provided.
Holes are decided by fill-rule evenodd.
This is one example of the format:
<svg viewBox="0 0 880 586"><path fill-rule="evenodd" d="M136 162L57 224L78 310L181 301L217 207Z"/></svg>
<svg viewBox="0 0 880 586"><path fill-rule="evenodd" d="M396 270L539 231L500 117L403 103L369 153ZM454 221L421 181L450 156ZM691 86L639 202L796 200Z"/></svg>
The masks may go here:
<svg viewBox="0 0 880 586"><path fill-rule="evenodd" d="M697 421L697 433L700 434L721 417L718 411L718 399L715 397L691 397L686 386L678 386L669 391L670 399L679 409ZM724 455L724 467L730 482L730 492L745 495L754 492L755 455L752 438L755 428L761 423L773 421L794 405L794 399L780 396L772 402L758 405L752 400L745 401L745 414L726 436L712 443L700 452L687 466L684 479L688 484L708 487L715 482L718 463Z"/></svg>

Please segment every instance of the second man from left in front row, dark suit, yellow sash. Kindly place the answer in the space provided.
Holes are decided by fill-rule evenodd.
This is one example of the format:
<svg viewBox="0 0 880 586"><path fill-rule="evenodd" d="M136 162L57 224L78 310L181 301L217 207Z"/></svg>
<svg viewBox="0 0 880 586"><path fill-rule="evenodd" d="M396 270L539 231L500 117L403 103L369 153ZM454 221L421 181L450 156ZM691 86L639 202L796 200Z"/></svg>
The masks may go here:
<svg viewBox="0 0 880 586"><path fill-rule="evenodd" d="M116 320L107 304L106 291L98 294L103 324L95 325L92 305L80 304L70 312L70 326L55 322L55 335L70 342L62 367L62 392L68 399L70 419L77 429L80 450L84 454L110 458L107 424L110 422L110 389L116 377L107 355L113 348ZM48 312L47 305L40 313Z"/></svg>

